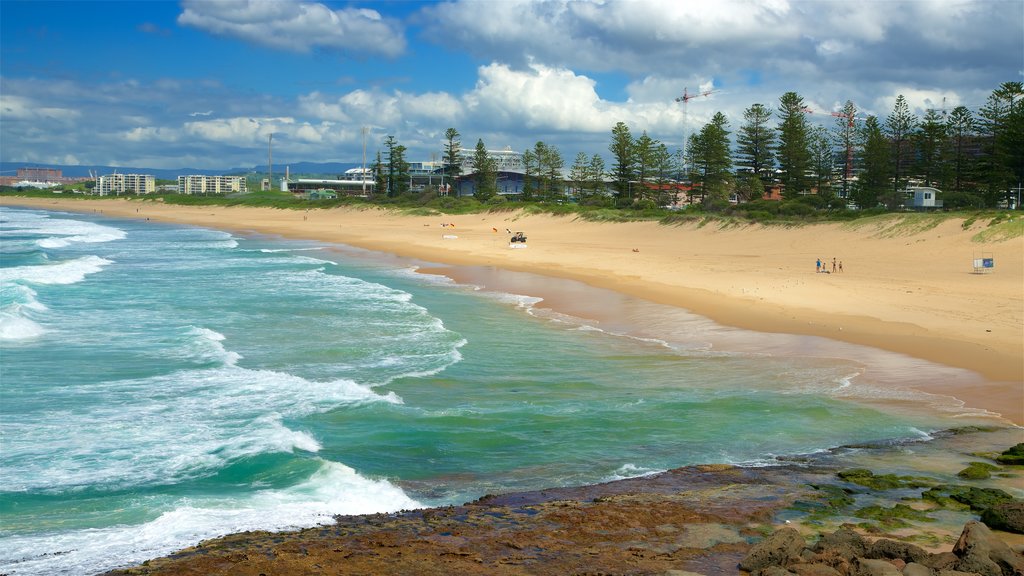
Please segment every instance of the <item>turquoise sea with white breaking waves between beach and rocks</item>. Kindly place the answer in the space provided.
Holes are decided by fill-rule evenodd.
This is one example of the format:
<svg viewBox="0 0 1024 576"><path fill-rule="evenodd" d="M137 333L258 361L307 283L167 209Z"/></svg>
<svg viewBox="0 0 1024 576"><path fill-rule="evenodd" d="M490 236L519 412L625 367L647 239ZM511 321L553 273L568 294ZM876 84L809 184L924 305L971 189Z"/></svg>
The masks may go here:
<svg viewBox="0 0 1024 576"><path fill-rule="evenodd" d="M665 338L346 247L101 214L0 222L6 574L964 423L955 403L872 383L864 358L769 355L784 336L639 301ZM870 402L893 395L930 408Z"/></svg>

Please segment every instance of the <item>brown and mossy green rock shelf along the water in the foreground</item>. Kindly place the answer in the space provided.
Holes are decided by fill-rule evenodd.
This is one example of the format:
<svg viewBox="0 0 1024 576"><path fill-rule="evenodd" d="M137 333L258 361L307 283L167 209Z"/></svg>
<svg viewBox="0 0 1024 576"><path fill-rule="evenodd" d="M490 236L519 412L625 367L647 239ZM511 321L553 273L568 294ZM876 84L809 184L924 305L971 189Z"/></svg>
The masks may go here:
<svg viewBox="0 0 1024 576"><path fill-rule="evenodd" d="M296 532L208 540L109 574L1020 575L1024 468L996 459L1015 440L1024 440L1021 428L951 430L909 447L846 447L776 466L688 466L460 506L336 517ZM850 467L898 457L944 469ZM956 476L972 462L988 477ZM1010 519L1004 530L1018 534L977 522L996 508Z"/></svg>

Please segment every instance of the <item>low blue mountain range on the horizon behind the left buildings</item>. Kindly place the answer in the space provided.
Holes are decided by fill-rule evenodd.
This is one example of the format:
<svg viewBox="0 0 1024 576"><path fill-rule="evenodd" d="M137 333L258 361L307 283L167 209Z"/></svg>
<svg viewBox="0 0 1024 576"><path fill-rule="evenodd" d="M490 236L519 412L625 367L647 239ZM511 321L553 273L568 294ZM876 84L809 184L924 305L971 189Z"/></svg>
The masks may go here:
<svg viewBox="0 0 1024 576"><path fill-rule="evenodd" d="M318 176L338 175L349 168L356 168L359 164L344 162L296 162L294 164L282 164L273 166L274 179L285 174L285 167L293 176ZM225 169L201 169L201 168L139 168L135 166L96 166L96 165L67 165L67 164L40 164L38 162L0 162L0 175L14 176L18 168L56 168L61 171L65 177L79 178L89 175L89 170L98 172L99 175L113 174L115 171L122 174L153 174L159 179L174 180L178 176L189 174L202 174L206 176L227 175L242 176L246 174L266 174L266 166L253 166L251 168L225 168Z"/></svg>

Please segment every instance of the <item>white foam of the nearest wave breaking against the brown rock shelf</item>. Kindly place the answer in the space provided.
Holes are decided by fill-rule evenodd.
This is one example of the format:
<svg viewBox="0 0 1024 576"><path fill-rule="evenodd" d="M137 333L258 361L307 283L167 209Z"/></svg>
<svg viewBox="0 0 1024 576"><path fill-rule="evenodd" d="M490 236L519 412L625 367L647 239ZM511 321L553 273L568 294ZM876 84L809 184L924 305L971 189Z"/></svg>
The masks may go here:
<svg viewBox="0 0 1024 576"><path fill-rule="evenodd" d="M336 515L393 512L422 507L386 480L322 460L306 481L238 499L181 498L141 526L5 538L0 572L27 575L93 574L127 567L248 530L290 530L333 522ZM40 550L47 550L40 553Z"/></svg>

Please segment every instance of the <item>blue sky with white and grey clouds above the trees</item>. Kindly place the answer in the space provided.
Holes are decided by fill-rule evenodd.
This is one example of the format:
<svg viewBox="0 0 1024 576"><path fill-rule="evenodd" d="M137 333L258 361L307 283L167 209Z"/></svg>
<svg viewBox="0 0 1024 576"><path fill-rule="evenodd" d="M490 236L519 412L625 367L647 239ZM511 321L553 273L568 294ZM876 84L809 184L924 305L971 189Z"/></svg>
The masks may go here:
<svg viewBox="0 0 1024 576"><path fill-rule="evenodd" d="M833 127L1024 81L1024 0L0 0L0 160L161 169L677 151L788 91ZM696 94L685 104L683 94Z"/></svg>

